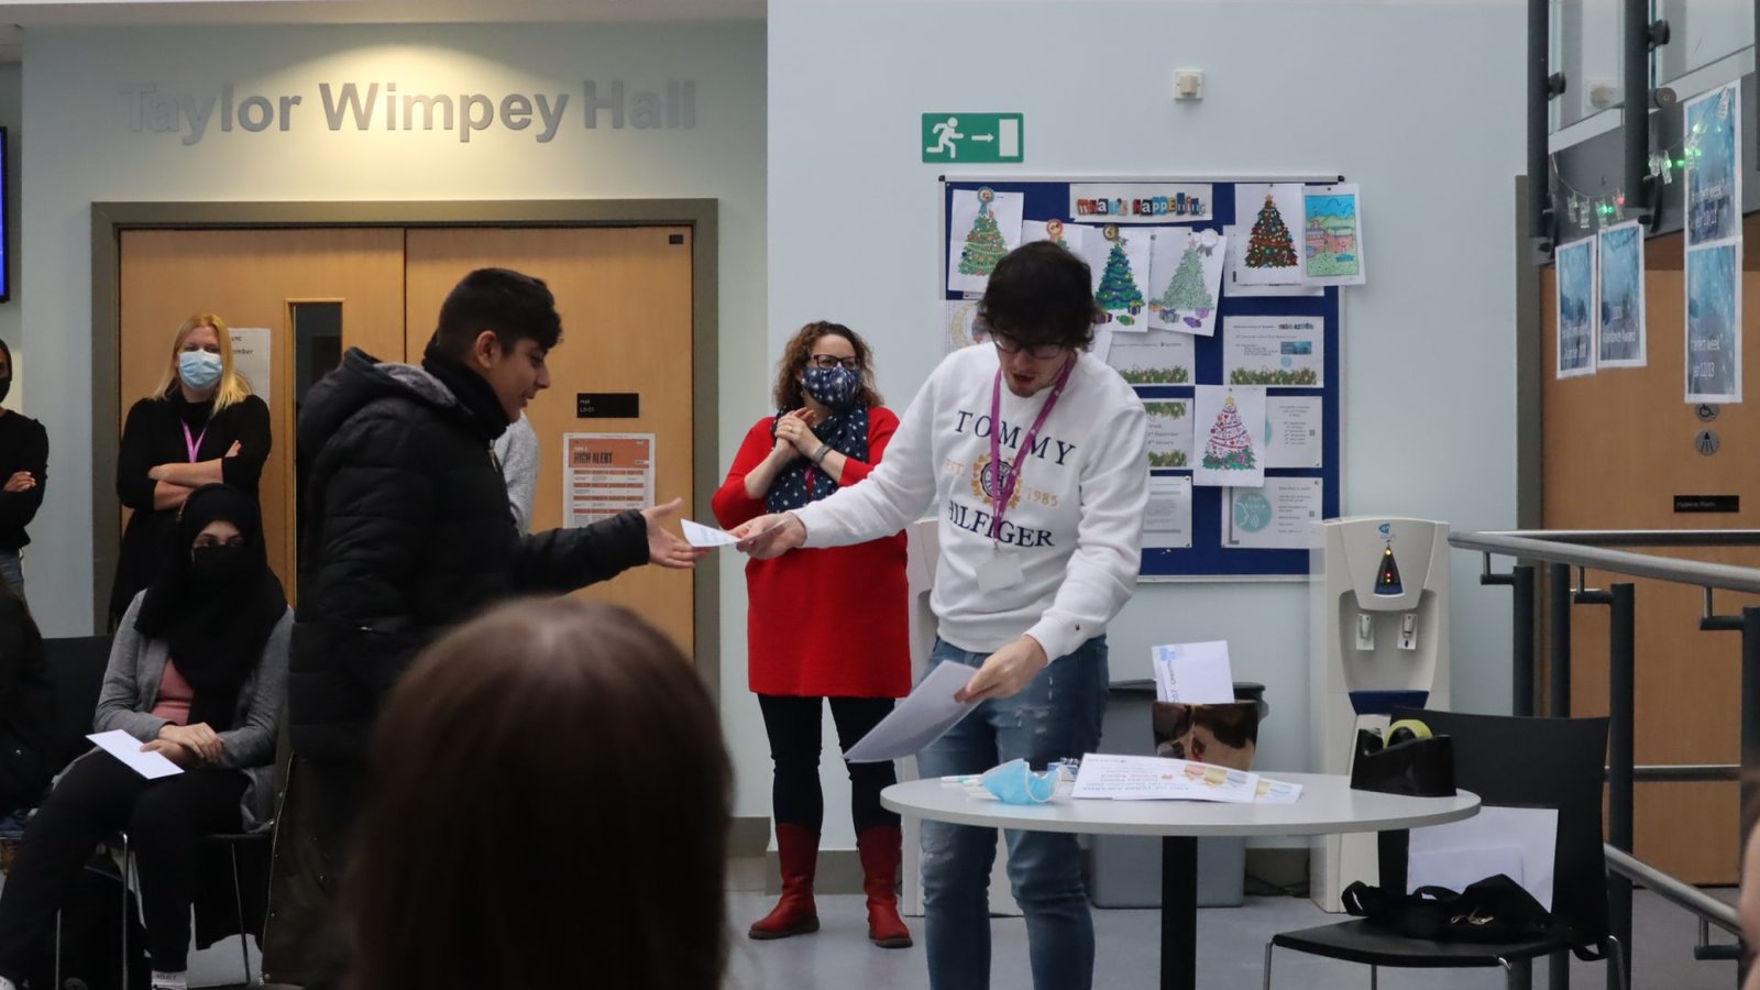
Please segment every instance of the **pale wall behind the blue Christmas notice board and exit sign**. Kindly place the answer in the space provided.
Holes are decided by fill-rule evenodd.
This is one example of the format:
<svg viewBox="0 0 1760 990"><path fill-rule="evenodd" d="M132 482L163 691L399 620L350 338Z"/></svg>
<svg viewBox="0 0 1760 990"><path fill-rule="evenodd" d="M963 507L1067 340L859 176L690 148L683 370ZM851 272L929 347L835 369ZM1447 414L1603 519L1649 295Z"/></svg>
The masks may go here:
<svg viewBox="0 0 1760 990"><path fill-rule="evenodd" d="M1522 32L1514 0L771 0L769 351L848 322L898 407L935 366L943 169L920 164L922 113L1023 111L1026 162L1003 174L1343 173L1371 278L1345 289L1345 511L1512 527ZM1174 67L1204 70L1200 104L1172 102ZM1508 710L1508 592L1452 564L1456 706ZM1269 685L1262 766L1306 768L1304 595L1142 585L1112 676L1148 676L1155 643L1230 639L1237 676Z"/></svg>

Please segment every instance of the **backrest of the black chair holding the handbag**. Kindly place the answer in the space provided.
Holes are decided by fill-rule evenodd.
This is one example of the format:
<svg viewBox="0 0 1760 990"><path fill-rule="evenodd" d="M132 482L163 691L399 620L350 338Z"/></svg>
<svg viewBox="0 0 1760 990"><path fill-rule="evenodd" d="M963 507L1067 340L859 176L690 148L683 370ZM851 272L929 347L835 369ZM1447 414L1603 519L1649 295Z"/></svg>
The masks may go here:
<svg viewBox="0 0 1760 990"><path fill-rule="evenodd" d="M1607 856L1602 853L1602 782L1607 719L1528 719L1394 708L1454 738L1454 782L1487 807L1558 810L1552 916L1589 939L1607 935ZM1389 856L1390 846L1382 846ZM1404 844L1397 846L1404 856ZM1383 860L1385 863L1385 860ZM1387 868L1392 868L1392 874ZM1404 863L1383 865L1404 877Z"/></svg>

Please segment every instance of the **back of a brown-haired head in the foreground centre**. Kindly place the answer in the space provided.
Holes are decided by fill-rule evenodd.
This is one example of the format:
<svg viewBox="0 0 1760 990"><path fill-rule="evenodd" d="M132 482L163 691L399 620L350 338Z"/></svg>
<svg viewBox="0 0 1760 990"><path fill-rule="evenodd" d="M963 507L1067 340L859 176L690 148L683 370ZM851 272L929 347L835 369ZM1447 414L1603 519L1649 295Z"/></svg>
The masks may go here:
<svg viewBox="0 0 1760 990"><path fill-rule="evenodd" d="M350 986L718 988L730 779L713 701L635 615L528 601L459 627L375 729Z"/></svg>

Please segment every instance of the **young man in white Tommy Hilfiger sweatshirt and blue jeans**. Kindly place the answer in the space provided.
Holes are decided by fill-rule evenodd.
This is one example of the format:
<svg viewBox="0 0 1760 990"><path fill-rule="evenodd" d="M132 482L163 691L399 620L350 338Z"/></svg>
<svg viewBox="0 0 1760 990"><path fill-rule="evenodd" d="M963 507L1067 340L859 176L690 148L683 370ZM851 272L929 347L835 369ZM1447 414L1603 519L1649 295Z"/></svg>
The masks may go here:
<svg viewBox="0 0 1760 990"><path fill-rule="evenodd" d="M766 558L876 539L938 504L929 668L973 668L959 696L979 706L917 756L924 777L1016 757L1038 768L1098 745L1105 625L1135 590L1142 551L1144 410L1086 352L1100 317L1088 264L1049 241L1016 248L979 312L994 344L942 361L866 483L734 530ZM1075 837L1007 835L1033 986L1086 990L1095 937ZM922 824L933 990L989 985L994 844L989 828Z"/></svg>

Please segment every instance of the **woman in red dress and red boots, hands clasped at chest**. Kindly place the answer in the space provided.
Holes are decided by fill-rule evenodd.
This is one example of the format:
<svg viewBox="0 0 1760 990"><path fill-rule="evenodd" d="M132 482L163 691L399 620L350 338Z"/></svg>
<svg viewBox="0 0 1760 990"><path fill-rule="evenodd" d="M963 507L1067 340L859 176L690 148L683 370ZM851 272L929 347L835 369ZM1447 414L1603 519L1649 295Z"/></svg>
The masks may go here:
<svg viewBox="0 0 1760 990"><path fill-rule="evenodd" d="M857 484L880 463L898 416L880 405L868 342L847 326L810 322L783 351L776 416L746 433L715 518L732 528L764 513L817 502ZM753 939L818 930L813 868L824 796L818 740L824 699L843 750L910 692L905 534L834 550L796 550L746 564L752 691L764 710L774 779L771 802L781 860L781 900L752 925ZM845 763L850 814L868 893L868 937L905 948L898 916L898 816L880 807L896 782L891 763Z"/></svg>

